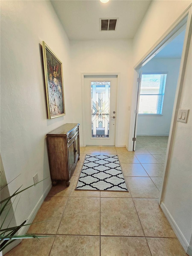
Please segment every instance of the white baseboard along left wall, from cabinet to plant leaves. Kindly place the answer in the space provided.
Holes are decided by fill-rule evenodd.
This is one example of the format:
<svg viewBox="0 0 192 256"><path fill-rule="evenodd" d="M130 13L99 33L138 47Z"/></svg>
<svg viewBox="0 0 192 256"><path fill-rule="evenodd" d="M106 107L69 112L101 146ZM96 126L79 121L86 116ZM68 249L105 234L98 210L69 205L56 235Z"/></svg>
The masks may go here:
<svg viewBox="0 0 192 256"><path fill-rule="evenodd" d="M39 199L38 203L36 204L35 208L33 209L32 213L29 215L29 218L27 220L27 223L32 223L33 219L35 218L35 215L37 214L39 208L41 207L42 203L45 200L45 197L47 196L47 194L49 193L50 189L52 187L52 183L49 183L48 187L46 188L45 192L43 193L43 195L41 196L41 198ZM24 235L27 233L27 230L29 229L29 226L24 226L19 230L19 235ZM14 242L12 242L10 245L8 245L6 248L4 248L3 250L3 255L6 254L8 251L10 251L11 249L13 249L16 245L18 245L20 242L22 241L22 239L16 239Z"/></svg>

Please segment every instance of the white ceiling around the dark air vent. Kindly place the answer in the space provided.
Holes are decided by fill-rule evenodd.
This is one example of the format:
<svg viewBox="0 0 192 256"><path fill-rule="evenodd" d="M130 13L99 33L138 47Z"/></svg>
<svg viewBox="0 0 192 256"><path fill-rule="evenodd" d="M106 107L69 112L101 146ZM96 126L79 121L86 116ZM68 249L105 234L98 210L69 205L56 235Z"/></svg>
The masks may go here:
<svg viewBox="0 0 192 256"><path fill-rule="evenodd" d="M151 0L52 0L56 14L70 40L130 39ZM118 18L116 31L100 31L100 18Z"/></svg>

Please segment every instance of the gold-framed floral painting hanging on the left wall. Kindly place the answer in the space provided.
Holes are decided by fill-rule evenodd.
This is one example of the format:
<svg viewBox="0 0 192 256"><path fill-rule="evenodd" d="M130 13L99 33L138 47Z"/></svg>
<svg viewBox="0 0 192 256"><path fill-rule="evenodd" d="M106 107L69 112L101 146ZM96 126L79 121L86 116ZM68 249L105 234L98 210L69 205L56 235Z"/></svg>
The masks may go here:
<svg viewBox="0 0 192 256"><path fill-rule="evenodd" d="M42 41L48 118L65 115L62 62Z"/></svg>

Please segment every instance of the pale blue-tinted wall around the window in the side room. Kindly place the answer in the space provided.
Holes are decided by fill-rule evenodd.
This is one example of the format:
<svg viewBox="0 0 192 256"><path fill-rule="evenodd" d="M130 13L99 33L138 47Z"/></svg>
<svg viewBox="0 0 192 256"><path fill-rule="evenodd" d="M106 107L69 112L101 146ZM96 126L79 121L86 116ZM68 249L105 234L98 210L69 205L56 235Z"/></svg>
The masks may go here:
<svg viewBox="0 0 192 256"><path fill-rule="evenodd" d="M162 115L138 115L137 135L169 135L181 59L152 59L142 72L167 74Z"/></svg>

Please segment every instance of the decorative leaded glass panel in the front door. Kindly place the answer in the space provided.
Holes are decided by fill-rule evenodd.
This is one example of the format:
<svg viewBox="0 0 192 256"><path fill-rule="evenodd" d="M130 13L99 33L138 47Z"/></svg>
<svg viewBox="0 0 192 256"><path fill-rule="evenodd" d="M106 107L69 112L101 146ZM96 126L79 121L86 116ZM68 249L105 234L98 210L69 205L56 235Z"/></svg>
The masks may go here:
<svg viewBox="0 0 192 256"><path fill-rule="evenodd" d="M91 137L109 138L110 81L91 81Z"/></svg>

